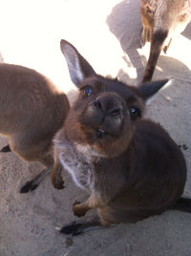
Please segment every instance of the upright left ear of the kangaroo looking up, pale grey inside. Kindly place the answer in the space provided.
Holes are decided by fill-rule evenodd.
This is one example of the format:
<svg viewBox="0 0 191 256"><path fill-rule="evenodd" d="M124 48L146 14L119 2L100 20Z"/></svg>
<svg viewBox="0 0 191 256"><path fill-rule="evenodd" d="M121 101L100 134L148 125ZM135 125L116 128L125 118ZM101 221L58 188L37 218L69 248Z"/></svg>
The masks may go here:
<svg viewBox="0 0 191 256"><path fill-rule="evenodd" d="M96 75L92 66L77 52L72 44L62 39L60 48L66 58L71 79L77 87L84 78Z"/></svg>

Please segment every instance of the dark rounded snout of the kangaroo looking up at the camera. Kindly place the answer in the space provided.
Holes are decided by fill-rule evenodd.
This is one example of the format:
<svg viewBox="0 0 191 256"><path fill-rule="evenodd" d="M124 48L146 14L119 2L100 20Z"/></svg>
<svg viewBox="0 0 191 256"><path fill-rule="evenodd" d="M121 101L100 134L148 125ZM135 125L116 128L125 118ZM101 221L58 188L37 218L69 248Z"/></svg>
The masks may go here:
<svg viewBox="0 0 191 256"><path fill-rule="evenodd" d="M123 115L123 111L125 112L123 105L122 98L120 99L116 94L98 94L87 103L83 114L78 117L81 132L91 138L91 143L99 143L100 139L119 138L123 133L123 124L127 123Z"/></svg>

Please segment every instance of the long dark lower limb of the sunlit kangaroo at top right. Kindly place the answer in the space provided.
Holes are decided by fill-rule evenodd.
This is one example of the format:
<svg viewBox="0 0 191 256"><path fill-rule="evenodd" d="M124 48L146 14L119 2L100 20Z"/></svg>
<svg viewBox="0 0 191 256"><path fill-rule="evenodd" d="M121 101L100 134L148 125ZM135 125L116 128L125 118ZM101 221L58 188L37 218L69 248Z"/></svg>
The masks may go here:
<svg viewBox="0 0 191 256"><path fill-rule="evenodd" d="M165 31L153 32L151 39L150 55L141 83L148 82L152 79L159 59L159 54L161 53L162 46L167 35L168 32Z"/></svg>

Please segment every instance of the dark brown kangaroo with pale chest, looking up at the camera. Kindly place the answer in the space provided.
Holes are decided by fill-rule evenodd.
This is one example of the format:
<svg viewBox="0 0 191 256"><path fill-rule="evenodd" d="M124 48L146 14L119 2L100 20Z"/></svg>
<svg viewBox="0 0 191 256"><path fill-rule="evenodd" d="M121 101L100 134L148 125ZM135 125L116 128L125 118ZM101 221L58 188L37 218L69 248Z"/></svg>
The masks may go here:
<svg viewBox="0 0 191 256"><path fill-rule="evenodd" d="M74 215L96 208L99 219L70 224L62 233L138 222L167 209L191 212L191 200L181 197L186 165L180 148L161 126L141 119L145 102L168 79L135 88L96 75L73 45L61 41L69 72L79 95L54 139L55 188L62 187L59 162L76 185L90 194L74 203Z"/></svg>

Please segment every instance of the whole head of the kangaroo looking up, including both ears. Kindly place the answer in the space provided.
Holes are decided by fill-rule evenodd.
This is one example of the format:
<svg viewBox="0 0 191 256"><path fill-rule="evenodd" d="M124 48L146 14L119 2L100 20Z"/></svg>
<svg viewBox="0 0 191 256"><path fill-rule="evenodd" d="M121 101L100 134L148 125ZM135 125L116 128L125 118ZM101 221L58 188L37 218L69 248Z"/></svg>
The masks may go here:
<svg viewBox="0 0 191 256"><path fill-rule="evenodd" d="M65 134L87 154L113 158L124 152L134 136L145 101L168 79L141 87L97 75L74 46L61 40L71 79L79 90L65 121Z"/></svg>

